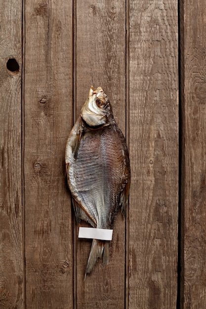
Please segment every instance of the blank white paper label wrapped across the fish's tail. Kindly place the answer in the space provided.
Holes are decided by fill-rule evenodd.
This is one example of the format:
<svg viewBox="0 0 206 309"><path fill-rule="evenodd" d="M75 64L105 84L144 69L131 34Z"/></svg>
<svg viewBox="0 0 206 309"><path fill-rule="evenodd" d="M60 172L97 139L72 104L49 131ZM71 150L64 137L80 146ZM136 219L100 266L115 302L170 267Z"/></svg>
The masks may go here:
<svg viewBox="0 0 206 309"><path fill-rule="evenodd" d="M100 240L112 240L112 233L113 230L80 228L78 237L100 239Z"/></svg>

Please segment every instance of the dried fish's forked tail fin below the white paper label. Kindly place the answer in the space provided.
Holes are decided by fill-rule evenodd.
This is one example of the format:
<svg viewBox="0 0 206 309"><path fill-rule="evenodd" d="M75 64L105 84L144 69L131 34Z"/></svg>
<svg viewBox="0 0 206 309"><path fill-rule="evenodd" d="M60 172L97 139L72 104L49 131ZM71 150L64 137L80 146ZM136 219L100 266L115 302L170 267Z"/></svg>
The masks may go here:
<svg viewBox="0 0 206 309"><path fill-rule="evenodd" d="M84 279L87 273L93 270L94 265L96 264L98 258L102 257L102 254L103 254L102 264L108 265L109 263L109 241L100 241L97 239L93 239L92 244L91 244L91 250L89 253L89 258L88 258L87 265L86 265Z"/></svg>

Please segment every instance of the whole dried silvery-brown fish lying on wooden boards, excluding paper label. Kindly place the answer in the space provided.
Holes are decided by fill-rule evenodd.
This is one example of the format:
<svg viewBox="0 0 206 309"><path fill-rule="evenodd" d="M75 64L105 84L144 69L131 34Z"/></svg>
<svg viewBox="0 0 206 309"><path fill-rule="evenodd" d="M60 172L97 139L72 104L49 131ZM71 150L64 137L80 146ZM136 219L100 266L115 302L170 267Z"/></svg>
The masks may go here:
<svg viewBox="0 0 206 309"><path fill-rule="evenodd" d="M125 213L128 203L130 165L123 133L101 87L90 88L69 135L65 162L77 222L113 229L119 208ZM101 256L108 264L109 241L93 239L85 275Z"/></svg>

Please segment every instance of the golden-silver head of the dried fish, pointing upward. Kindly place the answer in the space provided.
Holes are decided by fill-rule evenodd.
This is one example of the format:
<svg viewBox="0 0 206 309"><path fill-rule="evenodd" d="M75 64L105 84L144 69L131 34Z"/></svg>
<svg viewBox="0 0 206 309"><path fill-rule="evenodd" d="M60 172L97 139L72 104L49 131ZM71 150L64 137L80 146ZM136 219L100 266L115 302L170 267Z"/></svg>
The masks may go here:
<svg viewBox="0 0 206 309"><path fill-rule="evenodd" d="M89 127L108 125L114 120L109 99L101 87L94 89L91 86L81 116Z"/></svg>

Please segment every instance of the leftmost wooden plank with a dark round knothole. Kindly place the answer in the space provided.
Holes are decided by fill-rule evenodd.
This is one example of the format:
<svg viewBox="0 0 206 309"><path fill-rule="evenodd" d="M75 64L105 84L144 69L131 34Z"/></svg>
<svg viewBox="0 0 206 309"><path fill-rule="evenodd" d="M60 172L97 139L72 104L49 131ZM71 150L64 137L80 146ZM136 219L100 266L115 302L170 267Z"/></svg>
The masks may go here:
<svg viewBox="0 0 206 309"><path fill-rule="evenodd" d="M0 308L4 309L23 308L24 294L21 14L22 1L0 2Z"/></svg>

